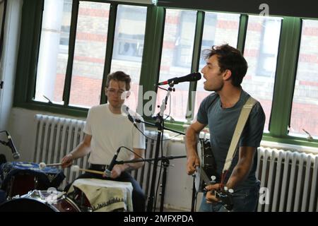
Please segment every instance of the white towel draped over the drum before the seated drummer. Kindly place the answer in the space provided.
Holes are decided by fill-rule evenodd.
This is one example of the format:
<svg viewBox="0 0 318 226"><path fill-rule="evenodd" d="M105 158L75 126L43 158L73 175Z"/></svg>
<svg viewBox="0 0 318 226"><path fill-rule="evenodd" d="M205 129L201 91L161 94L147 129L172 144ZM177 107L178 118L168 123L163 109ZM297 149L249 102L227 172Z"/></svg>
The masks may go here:
<svg viewBox="0 0 318 226"><path fill-rule="evenodd" d="M104 179L76 179L73 186L83 191L96 212L108 212L116 209L132 211L131 194L133 187L130 182L113 182Z"/></svg>

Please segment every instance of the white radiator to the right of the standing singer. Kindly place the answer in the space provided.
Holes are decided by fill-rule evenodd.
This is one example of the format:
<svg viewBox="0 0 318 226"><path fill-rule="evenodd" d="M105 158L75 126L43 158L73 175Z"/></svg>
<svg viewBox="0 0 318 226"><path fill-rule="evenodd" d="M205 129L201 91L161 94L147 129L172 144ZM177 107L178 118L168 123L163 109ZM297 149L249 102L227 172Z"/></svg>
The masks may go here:
<svg viewBox="0 0 318 226"><path fill-rule="evenodd" d="M259 148L257 177L261 181L257 211L318 211L318 155Z"/></svg>

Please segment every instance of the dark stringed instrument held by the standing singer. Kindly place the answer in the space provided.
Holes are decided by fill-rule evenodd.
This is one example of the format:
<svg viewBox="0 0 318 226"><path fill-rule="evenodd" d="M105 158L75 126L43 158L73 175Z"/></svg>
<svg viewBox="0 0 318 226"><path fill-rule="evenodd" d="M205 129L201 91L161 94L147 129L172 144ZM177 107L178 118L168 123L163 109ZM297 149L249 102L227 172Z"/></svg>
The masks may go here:
<svg viewBox="0 0 318 226"><path fill-rule="evenodd" d="M194 173L194 185L197 192L206 193L205 186L216 184L216 163L214 162L210 141L208 139L200 139L199 144L201 147L198 147L197 150L201 166L197 167ZM232 210L232 193L234 192L232 189L223 186L220 190L213 190L211 192L213 192L213 195L220 200L220 203L227 210Z"/></svg>

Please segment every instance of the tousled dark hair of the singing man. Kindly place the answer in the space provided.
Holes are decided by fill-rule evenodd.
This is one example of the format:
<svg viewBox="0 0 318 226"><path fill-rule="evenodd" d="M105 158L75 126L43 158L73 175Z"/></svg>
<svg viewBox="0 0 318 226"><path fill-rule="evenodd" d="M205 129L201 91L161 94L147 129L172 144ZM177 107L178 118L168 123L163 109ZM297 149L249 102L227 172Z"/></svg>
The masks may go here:
<svg viewBox="0 0 318 226"><path fill-rule="evenodd" d="M230 70L232 72L232 85L240 87L247 72L247 61L240 50L229 44L213 45L211 49L204 50L204 59L209 59L215 54L218 56L220 72Z"/></svg>

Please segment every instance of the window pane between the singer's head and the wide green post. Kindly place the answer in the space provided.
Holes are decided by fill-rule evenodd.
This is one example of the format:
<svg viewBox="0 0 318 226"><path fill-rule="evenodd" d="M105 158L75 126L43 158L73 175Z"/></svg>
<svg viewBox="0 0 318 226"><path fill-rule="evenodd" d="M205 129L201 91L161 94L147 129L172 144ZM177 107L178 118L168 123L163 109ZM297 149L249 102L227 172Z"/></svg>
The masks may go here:
<svg viewBox="0 0 318 226"><path fill-rule="evenodd" d="M249 16L247 25L244 57L249 67L242 88L261 102L266 115L265 131L269 129L271 116L281 20Z"/></svg>

